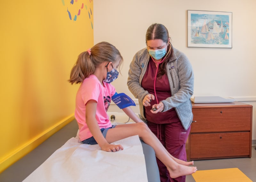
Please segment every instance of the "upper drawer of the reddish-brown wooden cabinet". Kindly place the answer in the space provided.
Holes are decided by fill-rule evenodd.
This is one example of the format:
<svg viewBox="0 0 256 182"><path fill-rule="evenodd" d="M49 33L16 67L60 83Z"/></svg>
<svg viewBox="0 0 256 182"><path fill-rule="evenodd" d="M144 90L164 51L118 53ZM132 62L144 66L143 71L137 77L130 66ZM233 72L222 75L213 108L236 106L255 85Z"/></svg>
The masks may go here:
<svg viewBox="0 0 256 182"><path fill-rule="evenodd" d="M250 131L251 108L193 108L191 133Z"/></svg>

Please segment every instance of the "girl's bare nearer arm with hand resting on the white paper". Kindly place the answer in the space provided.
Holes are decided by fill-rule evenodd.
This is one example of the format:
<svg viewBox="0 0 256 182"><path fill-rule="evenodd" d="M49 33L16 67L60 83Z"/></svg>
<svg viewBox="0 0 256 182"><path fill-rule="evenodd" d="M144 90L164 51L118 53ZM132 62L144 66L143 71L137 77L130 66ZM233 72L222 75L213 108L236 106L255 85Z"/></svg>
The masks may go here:
<svg viewBox="0 0 256 182"><path fill-rule="evenodd" d="M85 113L86 124L90 129L92 136L94 137L96 142L100 145L101 150L104 150L107 152L116 152L119 150L123 150L123 147L121 145L109 144L108 141L102 135L98 122L95 118L96 108L97 108L97 102L95 100L89 100L86 103L86 113Z"/></svg>

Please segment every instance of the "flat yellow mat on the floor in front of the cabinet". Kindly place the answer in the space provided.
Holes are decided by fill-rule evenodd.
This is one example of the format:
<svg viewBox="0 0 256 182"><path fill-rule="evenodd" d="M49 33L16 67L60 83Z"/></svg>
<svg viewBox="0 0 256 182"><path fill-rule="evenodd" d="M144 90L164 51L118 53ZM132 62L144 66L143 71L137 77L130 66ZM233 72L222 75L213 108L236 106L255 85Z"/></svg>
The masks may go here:
<svg viewBox="0 0 256 182"><path fill-rule="evenodd" d="M252 182L238 168L196 171L192 176L196 182Z"/></svg>

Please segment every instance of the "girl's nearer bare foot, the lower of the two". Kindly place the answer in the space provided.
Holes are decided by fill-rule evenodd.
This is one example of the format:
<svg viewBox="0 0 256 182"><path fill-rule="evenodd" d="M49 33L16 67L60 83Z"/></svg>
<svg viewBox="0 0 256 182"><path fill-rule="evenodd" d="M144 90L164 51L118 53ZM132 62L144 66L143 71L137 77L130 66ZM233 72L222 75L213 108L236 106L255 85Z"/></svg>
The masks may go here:
<svg viewBox="0 0 256 182"><path fill-rule="evenodd" d="M167 167L171 178L177 178L179 176L185 176L185 175L190 175L193 174L197 171L196 167L193 166L186 166L186 165L182 165L182 164L178 164L176 166L176 168L171 169L169 167Z"/></svg>

